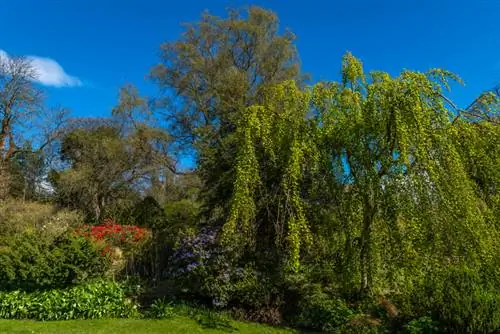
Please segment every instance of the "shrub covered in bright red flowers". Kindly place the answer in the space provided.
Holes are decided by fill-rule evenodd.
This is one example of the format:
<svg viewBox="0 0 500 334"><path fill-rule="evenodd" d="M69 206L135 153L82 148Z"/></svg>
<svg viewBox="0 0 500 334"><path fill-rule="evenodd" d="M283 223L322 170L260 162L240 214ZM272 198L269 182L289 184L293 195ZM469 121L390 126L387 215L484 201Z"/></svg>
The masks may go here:
<svg viewBox="0 0 500 334"><path fill-rule="evenodd" d="M147 229L133 225L120 225L112 219L105 219L101 225L83 225L75 233L90 238L94 242L104 243L101 251L103 256L113 255L112 246L133 251L143 245L151 235Z"/></svg>

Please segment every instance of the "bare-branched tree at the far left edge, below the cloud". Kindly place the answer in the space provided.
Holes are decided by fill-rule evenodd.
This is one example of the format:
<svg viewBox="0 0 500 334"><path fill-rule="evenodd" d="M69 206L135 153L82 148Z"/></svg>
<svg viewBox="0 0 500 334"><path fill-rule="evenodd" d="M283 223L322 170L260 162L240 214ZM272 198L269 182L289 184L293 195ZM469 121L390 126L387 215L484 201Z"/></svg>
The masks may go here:
<svg viewBox="0 0 500 334"><path fill-rule="evenodd" d="M12 162L44 156L42 151L58 137L68 115L65 108L45 106L37 77L29 59L0 55L0 198L13 182L9 181L9 168L16 165ZM18 154L23 157L17 158Z"/></svg>

